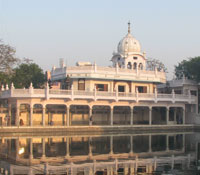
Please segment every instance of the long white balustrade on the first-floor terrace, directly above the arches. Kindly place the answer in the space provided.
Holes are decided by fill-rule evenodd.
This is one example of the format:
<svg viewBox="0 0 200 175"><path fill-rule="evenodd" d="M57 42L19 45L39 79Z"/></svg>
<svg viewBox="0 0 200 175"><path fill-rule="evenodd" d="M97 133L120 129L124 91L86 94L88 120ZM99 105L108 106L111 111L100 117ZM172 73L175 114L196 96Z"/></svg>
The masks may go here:
<svg viewBox="0 0 200 175"><path fill-rule="evenodd" d="M33 96L34 95L34 96ZM56 96L57 95L57 96ZM154 101L184 101L184 102L194 102L196 103L196 96L191 94L158 94L155 93L125 93L125 92L107 92L107 91L80 91L80 90L61 90L61 89L9 89L1 91L0 98L35 98L35 97L46 97L51 98L85 98L85 99L114 99L116 101L121 100L154 100Z"/></svg>

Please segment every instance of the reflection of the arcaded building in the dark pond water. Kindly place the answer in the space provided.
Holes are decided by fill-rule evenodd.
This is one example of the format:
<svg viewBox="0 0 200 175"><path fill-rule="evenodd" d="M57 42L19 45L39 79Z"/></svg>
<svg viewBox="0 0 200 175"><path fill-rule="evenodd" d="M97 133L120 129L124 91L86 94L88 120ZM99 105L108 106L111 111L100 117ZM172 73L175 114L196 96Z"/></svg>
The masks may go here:
<svg viewBox="0 0 200 175"><path fill-rule="evenodd" d="M184 133L1 137L0 171L11 175L128 175L190 169L200 148L193 138L194 134Z"/></svg>

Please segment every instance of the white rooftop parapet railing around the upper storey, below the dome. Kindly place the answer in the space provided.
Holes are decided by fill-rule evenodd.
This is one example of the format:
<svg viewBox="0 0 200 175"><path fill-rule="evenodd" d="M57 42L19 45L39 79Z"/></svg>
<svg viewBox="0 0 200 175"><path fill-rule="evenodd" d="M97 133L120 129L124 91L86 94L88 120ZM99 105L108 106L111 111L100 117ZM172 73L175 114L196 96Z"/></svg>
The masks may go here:
<svg viewBox="0 0 200 175"><path fill-rule="evenodd" d="M96 65L91 66L74 66L55 68L51 72L53 81L62 79L64 76L70 75L71 78L76 77L92 77L92 78L115 78L124 80L137 81L156 81L166 82L166 75L163 71L139 70L139 69L122 69L118 67L101 67Z"/></svg>

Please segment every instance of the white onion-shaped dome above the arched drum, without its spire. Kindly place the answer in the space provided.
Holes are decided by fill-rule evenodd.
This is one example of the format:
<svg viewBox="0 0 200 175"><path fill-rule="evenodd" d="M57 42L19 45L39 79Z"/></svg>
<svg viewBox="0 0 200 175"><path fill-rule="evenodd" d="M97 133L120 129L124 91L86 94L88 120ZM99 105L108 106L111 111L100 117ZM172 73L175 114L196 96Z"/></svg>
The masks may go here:
<svg viewBox="0 0 200 175"><path fill-rule="evenodd" d="M130 33L128 33L118 44L118 53L140 52L140 43Z"/></svg>

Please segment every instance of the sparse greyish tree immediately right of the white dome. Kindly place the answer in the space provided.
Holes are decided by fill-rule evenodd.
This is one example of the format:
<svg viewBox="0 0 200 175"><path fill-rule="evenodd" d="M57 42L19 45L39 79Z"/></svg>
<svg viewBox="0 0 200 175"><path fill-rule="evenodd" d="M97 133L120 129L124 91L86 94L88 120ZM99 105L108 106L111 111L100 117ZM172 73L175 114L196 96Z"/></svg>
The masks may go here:
<svg viewBox="0 0 200 175"><path fill-rule="evenodd" d="M147 67L147 70L151 70L151 71L157 68L158 71L167 72L167 68L165 67L165 65L160 60L157 60L157 59L152 59L152 58L147 59L146 67Z"/></svg>

